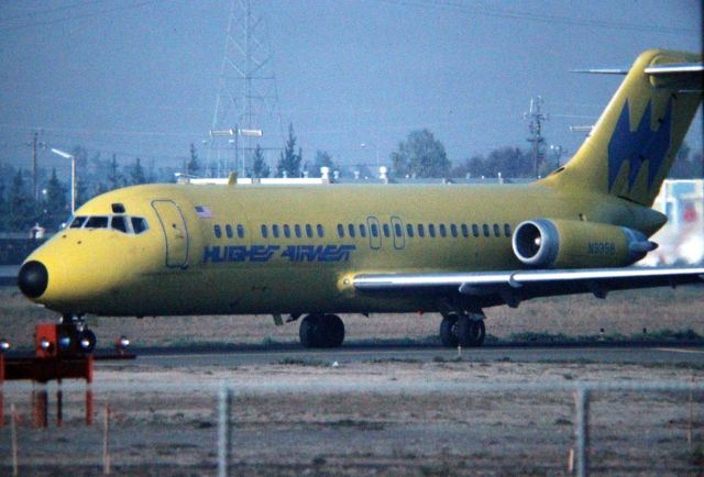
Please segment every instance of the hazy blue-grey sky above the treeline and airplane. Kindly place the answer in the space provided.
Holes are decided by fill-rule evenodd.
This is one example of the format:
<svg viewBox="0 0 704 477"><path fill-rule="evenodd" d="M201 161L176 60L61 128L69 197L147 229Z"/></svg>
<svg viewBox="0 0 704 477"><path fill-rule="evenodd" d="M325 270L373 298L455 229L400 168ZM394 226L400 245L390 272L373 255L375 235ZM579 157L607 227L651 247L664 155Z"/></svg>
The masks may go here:
<svg viewBox="0 0 704 477"><path fill-rule="evenodd" d="M230 0L0 2L0 160L82 145L121 162L175 164L212 123ZM459 163L527 146L522 113L544 98L549 144L574 152L620 77L650 47L702 48L697 0L261 0L278 109L311 160L382 162L427 127ZM263 32L263 30L262 30ZM701 114L700 114L701 117ZM267 141L282 144L278 131ZM689 141L702 148L701 122ZM362 147L365 144L365 147ZM64 167L43 152L44 165Z"/></svg>

